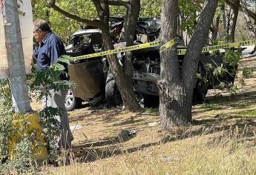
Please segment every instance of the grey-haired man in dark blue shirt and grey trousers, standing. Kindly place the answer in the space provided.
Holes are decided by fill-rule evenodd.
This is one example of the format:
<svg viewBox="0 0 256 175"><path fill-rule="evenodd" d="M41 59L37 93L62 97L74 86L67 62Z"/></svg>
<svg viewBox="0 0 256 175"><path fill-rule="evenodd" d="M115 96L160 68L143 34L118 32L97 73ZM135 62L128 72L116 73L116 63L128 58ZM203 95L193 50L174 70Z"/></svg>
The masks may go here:
<svg viewBox="0 0 256 175"><path fill-rule="evenodd" d="M59 36L52 33L49 25L42 19L37 19L33 23L33 36L36 42L39 42L37 49L36 63L39 71L50 67L51 64L56 62L60 56L65 55L65 47ZM60 79L67 80L68 77L65 74L60 76ZM50 96L47 96L47 100L44 103L45 107L53 107L62 109L61 115L57 116L56 119L61 124L61 135L59 138L59 148L69 149L71 148L71 142L73 135L70 131L68 122L68 113L65 108L65 96L66 90L50 90Z"/></svg>

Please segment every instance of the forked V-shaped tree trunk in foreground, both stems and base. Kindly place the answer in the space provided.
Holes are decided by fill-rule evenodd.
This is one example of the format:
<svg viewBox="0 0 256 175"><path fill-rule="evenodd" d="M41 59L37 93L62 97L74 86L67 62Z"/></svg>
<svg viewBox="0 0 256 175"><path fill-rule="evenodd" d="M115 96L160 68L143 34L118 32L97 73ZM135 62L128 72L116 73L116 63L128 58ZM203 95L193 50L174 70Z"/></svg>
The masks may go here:
<svg viewBox="0 0 256 175"><path fill-rule="evenodd" d="M160 88L160 120L163 128L168 128L171 125L184 125L191 121L197 65L216 8L217 0L207 1L188 44L181 72L179 71L176 45L161 53L161 73L158 85ZM163 0L161 19L160 42L164 44L176 36L177 0Z"/></svg>

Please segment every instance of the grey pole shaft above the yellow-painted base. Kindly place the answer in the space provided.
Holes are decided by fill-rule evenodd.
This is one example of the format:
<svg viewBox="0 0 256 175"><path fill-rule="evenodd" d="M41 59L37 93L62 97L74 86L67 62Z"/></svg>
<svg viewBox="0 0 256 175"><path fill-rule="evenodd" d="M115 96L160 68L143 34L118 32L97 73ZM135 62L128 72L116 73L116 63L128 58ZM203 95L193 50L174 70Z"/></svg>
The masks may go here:
<svg viewBox="0 0 256 175"><path fill-rule="evenodd" d="M13 108L15 113L29 112L31 111L31 107L27 90L22 34L19 24L17 1L5 0L4 10L4 31Z"/></svg>

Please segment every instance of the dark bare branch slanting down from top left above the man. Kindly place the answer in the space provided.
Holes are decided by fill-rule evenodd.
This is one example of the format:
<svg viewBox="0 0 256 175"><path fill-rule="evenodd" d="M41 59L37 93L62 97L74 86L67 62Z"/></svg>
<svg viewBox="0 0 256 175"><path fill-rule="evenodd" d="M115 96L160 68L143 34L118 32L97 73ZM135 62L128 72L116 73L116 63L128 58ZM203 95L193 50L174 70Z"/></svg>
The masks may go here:
<svg viewBox="0 0 256 175"><path fill-rule="evenodd" d="M56 10L57 12L61 13L63 16L66 16L66 17L73 19L77 22L82 22L82 23L88 24L92 27L99 27L99 22L94 22L89 19L82 19L79 16L73 15L71 13L68 13L65 10L62 10L60 7L58 7L56 5L56 0L52 0L50 2L45 1L45 3L47 4L48 7L53 8L53 10Z"/></svg>

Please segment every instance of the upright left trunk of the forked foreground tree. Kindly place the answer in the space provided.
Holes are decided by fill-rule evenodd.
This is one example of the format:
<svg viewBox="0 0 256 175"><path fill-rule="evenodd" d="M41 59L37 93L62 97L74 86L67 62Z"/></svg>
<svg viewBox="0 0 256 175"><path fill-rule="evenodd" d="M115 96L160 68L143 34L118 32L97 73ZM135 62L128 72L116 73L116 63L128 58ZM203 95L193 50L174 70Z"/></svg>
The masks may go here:
<svg viewBox="0 0 256 175"><path fill-rule="evenodd" d="M161 14L160 44L163 45L177 36L177 0L163 0ZM158 82L160 93L160 121L163 128L171 125L183 125L185 96L180 82L177 45L160 53L161 71Z"/></svg>

